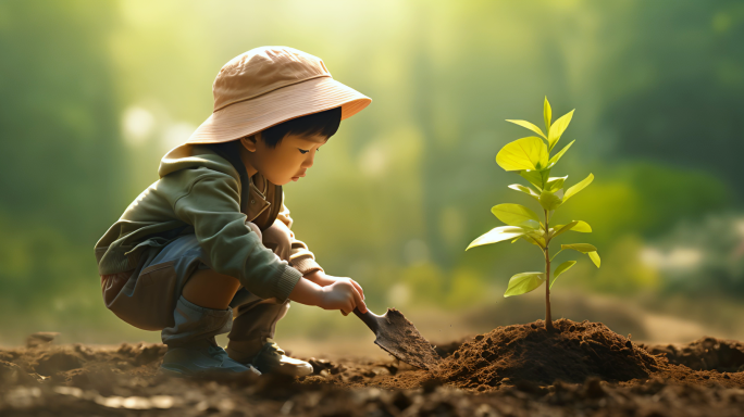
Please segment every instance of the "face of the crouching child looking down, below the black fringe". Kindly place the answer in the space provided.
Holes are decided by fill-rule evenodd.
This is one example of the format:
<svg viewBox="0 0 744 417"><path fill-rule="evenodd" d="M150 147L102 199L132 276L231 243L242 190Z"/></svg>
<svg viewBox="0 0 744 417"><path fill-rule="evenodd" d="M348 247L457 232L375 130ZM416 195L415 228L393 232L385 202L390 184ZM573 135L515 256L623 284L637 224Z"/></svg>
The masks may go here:
<svg viewBox="0 0 744 417"><path fill-rule="evenodd" d="M321 135L287 135L272 149L263 142L260 132L253 138L241 139L248 150L245 159L253 169L277 186L305 177L315 152L326 141L327 138ZM248 166L246 168L250 170Z"/></svg>

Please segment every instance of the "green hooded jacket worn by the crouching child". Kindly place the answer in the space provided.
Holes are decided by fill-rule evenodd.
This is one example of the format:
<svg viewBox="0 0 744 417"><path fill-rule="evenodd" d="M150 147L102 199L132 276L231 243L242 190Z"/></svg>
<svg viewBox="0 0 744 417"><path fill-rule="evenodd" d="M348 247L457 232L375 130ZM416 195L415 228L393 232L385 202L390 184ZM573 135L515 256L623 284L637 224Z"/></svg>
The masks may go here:
<svg viewBox="0 0 744 417"><path fill-rule="evenodd" d="M237 278L262 299L283 302L302 275L322 270L294 235L287 263L266 249L246 224L255 223L264 230L275 219L290 227L292 219L282 188L264 180L265 194L259 191L235 156L236 144L182 146L163 156L160 179L142 191L96 243L99 274L135 269L146 249L162 248L189 232L196 235L216 273Z"/></svg>

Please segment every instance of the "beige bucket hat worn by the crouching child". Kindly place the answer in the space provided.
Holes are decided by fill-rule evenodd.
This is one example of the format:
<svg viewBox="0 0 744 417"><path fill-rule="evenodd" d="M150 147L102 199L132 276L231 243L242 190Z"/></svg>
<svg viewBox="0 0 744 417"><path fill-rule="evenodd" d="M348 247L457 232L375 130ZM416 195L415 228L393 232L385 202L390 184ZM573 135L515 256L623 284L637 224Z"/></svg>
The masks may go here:
<svg viewBox="0 0 744 417"><path fill-rule="evenodd" d="M292 118L342 108L342 121L372 100L331 76L323 60L261 47L226 63L212 85L214 111L184 144L227 142Z"/></svg>

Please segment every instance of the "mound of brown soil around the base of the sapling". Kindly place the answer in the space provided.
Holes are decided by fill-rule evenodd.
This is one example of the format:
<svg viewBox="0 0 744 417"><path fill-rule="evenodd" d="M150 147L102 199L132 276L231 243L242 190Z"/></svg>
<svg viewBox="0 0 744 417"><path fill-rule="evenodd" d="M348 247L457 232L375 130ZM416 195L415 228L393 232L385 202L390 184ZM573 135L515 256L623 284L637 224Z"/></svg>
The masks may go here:
<svg viewBox="0 0 744 417"><path fill-rule="evenodd" d="M649 354L600 323L544 321L498 327L463 343L446 357L438 376L462 388L501 383L550 384L556 380L583 383L587 377L605 381L648 378L667 361Z"/></svg>

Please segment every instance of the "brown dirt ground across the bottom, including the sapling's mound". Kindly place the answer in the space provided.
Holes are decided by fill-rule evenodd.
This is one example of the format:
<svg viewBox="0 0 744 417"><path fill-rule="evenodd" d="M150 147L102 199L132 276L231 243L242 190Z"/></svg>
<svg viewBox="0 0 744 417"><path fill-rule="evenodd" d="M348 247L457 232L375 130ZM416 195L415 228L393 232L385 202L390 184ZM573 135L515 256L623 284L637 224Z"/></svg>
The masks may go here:
<svg viewBox="0 0 744 417"><path fill-rule="evenodd" d="M0 350L2 416L744 416L744 343L644 345L602 324L542 321L441 343L438 368L305 358L287 379L158 374L165 346Z"/></svg>

